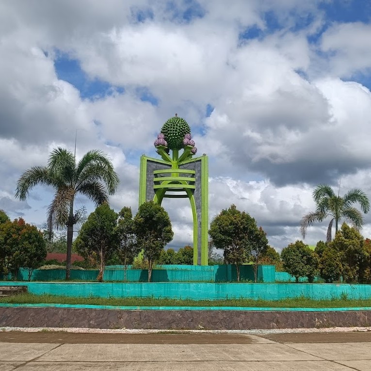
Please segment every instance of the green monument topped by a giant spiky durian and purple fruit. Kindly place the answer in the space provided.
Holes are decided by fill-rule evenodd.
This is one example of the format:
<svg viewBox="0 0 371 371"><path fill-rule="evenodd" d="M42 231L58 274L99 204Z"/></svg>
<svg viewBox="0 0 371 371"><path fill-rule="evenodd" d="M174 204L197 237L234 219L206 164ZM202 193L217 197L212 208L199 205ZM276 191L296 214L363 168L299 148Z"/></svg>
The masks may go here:
<svg viewBox="0 0 371 371"><path fill-rule="evenodd" d="M208 265L208 157L197 152L188 123L175 114L154 143L161 159L143 155L139 205L164 198L188 198L193 215L194 265Z"/></svg>

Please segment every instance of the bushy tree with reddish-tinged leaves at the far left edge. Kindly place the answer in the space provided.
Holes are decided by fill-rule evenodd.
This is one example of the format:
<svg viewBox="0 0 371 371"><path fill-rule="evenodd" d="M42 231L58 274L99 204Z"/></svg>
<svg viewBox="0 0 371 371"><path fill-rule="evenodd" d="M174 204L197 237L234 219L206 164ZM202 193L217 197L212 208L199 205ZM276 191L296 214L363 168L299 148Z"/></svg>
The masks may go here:
<svg viewBox="0 0 371 371"><path fill-rule="evenodd" d="M28 269L28 279L47 256L43 234L22 218L0 225L0 246L3 269L17 276L20 267Z"/></svg>

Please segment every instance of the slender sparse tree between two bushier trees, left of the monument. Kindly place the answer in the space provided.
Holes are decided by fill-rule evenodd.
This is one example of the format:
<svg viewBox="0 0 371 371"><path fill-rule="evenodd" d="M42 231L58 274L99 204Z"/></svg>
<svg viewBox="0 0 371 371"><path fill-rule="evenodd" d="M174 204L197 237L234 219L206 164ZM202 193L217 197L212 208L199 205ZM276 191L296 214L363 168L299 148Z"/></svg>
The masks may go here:
<svg viewBox="0 0 371 371"><path fill-rule="evenodd" d="M128 264L133 262L134 258L139 254L140 248L136 243L131 208L122 208L118 215L119 219L116 226L116 233L120 242L118 257L121 264L124 265L124 280L126 281Z"/></svg>

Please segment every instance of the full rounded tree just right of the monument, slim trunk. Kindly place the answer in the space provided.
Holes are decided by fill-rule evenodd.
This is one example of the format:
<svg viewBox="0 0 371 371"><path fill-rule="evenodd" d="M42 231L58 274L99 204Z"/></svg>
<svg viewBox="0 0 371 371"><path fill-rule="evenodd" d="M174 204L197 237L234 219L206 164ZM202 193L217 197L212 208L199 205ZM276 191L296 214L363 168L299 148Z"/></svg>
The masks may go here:
<svg viewBox="0 0 371 371"><path fill-rule="evenodd" d="M250 258L258 234L257 223L248 213L231 205L222 210L210 223L209 235L217 249L224 250L226 261L236 265L240 282L240 265Z"/></svg>

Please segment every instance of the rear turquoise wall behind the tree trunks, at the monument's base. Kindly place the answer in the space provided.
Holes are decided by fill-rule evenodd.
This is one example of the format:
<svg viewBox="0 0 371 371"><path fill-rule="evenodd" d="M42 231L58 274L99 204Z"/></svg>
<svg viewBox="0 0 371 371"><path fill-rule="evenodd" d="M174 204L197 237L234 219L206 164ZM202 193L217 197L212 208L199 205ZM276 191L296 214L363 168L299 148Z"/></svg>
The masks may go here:
<svg viewBox="0 0 371 371"><path fill-rule="evenodd" d="M234 265L162 265L160 269L152 271L152 282L234 282L237 281L237 272ZM274 282L274 265L258 266L259 282ZM81 281L95 281L98 271L71 270L71 279ZM18 279L27 281L28 270L21 268ZM60 281L65 279L64 269L49 269L33 271L32 281ZM103 275L104 281L124 281L124 269L122 266L108 266ZM127 282L147 282L148 271L140 269L128 269ZM254 268L252 265L240 267L240 280L254 281Z"/></svg>

